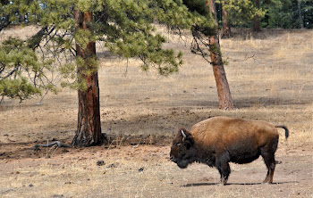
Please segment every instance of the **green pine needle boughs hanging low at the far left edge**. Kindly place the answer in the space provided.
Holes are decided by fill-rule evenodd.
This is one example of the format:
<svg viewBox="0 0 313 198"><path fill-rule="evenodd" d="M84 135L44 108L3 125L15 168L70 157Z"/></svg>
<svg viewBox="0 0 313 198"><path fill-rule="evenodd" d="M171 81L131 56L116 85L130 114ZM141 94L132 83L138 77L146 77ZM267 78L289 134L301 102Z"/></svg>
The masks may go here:
<svg viewBox="0 0 313 198"><path fill-rule="evenodd" d="M56 88L49 83L44 70L51 61L39 61L35 52L20 39L9 38L0 45L0 95L19 98L42 95L42 90Z"/></svg>

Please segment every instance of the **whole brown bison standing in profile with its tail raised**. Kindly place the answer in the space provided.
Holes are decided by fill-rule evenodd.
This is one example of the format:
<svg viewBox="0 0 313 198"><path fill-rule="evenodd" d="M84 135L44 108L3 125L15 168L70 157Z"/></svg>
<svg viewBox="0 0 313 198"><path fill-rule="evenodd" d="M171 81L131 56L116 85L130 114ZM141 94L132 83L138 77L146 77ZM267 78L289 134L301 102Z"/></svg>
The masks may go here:
<svg viewBox="0 0 313 198"><path fill-rule="evenodd" d="M181 169L192 162L205 163L218 169L221 185L226 185L231 173L229 162L250 163L263 157L267 174L263 183L272 183L275 171L275 151L278 144L276 128L283 125L266 121L214 117L200 121L190 131L180 128L173 138L170 160Z"/></svg>

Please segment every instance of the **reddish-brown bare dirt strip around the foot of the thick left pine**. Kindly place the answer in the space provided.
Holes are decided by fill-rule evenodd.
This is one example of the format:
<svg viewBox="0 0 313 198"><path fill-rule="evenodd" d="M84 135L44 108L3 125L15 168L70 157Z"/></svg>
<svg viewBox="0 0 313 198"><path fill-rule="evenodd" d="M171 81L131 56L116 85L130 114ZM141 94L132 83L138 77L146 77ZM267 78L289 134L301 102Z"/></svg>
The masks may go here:
<svg viewBox="0 0 313 198"><path fill-rule="evenodd" d="M96 152L98 148L114 149L125 146L139 146L139 145L150 145L150 146L165 146L171 143L171 139L165 136L106 136L105 143L99 146L93 146L88 148L74 148L71 146L71 139L57 140L67 146L58 147L57 144L47 147L49 143L55 142L56 139L52 139L47 142L31 142L31 143L7 143L0 144L0 161L13 161L21 160L25 158L40 159L40 158L51 158L52 156L63 155L64 153L80 153L83 150ZM42 146L44 145L44 146Z"/></svg>

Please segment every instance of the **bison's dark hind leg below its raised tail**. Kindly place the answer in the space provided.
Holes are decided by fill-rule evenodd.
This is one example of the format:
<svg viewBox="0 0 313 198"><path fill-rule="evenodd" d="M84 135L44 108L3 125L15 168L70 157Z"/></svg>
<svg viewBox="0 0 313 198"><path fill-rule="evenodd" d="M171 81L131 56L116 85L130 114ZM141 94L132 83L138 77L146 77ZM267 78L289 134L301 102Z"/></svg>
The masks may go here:
<svg viewBox="0 0 313 198"><path fill-rule="evenodd" d="M264 179L263 183L268 183L268 184L273 183L273 176L274 176L275 164L276 164L275 151L277 148L277 142L278 141L273 141L273 144L269 144L261 148L261 155L263 157L263 160L267 168L266 178Z"/></svg>

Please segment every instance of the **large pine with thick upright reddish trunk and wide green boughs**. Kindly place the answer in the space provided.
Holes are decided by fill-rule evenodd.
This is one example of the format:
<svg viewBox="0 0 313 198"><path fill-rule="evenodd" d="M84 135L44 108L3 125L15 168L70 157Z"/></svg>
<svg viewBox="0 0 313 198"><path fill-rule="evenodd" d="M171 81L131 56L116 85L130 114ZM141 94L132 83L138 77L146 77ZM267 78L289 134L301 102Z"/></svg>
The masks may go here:
<svg viewBox="0 0 313 198"><path fill-rule="evenodd" d="M196 20L196 16L179 0L20 0L4 2L0 4L0 9L3 11L1 28L9 24L37 24L41 27L30 39L18 40L22 45L13 44L14 40L10 38L0 46L0 93L22 99L40 94L41 87L33 83L33 79L43 79L47 76L45 72L55 70L52 65L57 65L63 76L61 85L76 88L79 93L78 128L72 141L74 146L102 142L96 41L103 42L113 54L124 58L139 57L143 70L153 65L160 74L169 75L178 71L182 54L163 49L165 37L157 34L151 23L159 21L171 28L190 29L192 23L201 21ZM17 45L16 50L12 45ZM27 50L21 51L23 47ZM4 54L19 51L22 54L11 62L4 57ZM25 54L30 54L27 57L32 57L33 66L31 59L20 60ZM57 64L60 59L65 63ZM30 66L38 70L30 69ZM32 78L25 78L21 69L29 71ZM17 74L13 77L15 71ZM15 81L9 82L9 78ZM55 88L51 80L48 82L50 84L42 86ZM10 86L15 86L17 91L7 93L7 90L15 90Z"/></svg>

